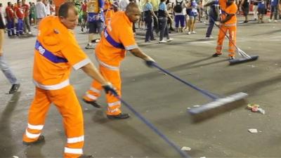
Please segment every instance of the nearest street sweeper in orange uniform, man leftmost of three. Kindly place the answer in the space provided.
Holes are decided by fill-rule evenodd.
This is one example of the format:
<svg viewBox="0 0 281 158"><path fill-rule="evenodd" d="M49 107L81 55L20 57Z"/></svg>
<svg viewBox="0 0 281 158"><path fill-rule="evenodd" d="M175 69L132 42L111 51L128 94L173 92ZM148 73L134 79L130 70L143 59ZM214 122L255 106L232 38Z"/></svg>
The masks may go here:
<svg viewBox="0 0 281 158"><path fill-rule="evenodd" d="M48 109L53 103L63 117L67 136L64 157L92 157L83 154L84 120L74 88L70 85L71 69L83 70L98 81L106 93L117 92L93 66L77 44L73 32L69 30L77 25L78 12L74 5L70 2L62 4L58 15L48 16L39 24L33 68L36 92L22 143L33 145L44 141L41 130Z"/></svg>

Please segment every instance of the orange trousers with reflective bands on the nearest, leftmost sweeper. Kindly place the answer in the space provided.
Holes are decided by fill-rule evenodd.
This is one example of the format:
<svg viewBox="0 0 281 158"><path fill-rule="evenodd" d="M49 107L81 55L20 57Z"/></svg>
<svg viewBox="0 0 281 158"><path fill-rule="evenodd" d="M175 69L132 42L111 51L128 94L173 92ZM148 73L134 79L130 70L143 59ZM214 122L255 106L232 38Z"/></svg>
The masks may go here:
<svg viewBox="0 0 281 158"><path fill-rule="evenodd" d="M84 145L84 120L74 88L70 85L58 90L36 88L28 115L27 129L22 140L29 143L39 138L51 103L58 108L63 117L67 136L64 157L77 158L81 156Z"/></svg>

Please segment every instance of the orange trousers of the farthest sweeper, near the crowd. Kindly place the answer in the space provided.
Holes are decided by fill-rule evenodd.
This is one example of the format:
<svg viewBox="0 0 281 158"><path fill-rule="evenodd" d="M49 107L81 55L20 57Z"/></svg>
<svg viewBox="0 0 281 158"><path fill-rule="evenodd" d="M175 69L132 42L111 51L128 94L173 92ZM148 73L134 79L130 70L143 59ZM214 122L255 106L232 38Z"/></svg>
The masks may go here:
<svg viewBox="0 0 281 158"><path fill-rule="evenodd" d="M229 38L233 41L228 43L228 56L235 56L235 45L236 45L236 25L225 26L221 25L218 32L218 41L216 45L216 53L221 54L223 49L223 40L226 37L226 34L229 33ZM235 45L234 45L235 44Z"/></svg>

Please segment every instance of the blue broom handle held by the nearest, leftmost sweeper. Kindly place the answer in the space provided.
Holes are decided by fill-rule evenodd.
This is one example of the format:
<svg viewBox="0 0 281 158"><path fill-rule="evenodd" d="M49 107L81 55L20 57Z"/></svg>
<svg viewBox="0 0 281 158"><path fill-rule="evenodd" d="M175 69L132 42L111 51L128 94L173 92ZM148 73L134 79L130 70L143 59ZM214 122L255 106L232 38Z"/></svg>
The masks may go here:
<svg viewBox="0 0 281 158"><path fill-rule="evenodd" d="M173 142L171 142L171 140L169 140L169 138L167 138L163 133L161 133L155 126L153 126L153 124L151 124L150 121L145 119L145 117L143 117L140 113L138 113L136 110L134 110L131 105L126 103L117 94L115 94L115 97L118 98L129 110L131 110L131 112L133 112L133 114L136 114L136 117L138 117L138 119L141 119L141 121L143 121L143 123L145 123L150 129L152 129L152 131L157 133L158 136L160 136L166 143L168 143L171 147L173 147L178 152L178 154L181 154L181 157L191 158L187 153L183 152L181 149L178 148L177 145L175 145Z"/></svg>

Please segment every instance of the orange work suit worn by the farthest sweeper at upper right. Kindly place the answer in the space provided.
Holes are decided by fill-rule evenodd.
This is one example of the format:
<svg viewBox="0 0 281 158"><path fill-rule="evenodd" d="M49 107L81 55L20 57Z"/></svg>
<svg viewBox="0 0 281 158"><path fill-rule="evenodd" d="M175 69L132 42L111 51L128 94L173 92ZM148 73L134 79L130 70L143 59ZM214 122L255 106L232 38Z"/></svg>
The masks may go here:
<svg viewBox="0 0 281 158"><path fill-rule="evenodd" d="M224 0L223 0L224 1ZM220 1L221 5L221 10L222 10L222 15L221 15L221 20L226 18L227 14L236 14L237 12L237 6L235 3L231 4L230 6L226 6L224 2ZM225 7L225 8L224 8ZM237 18L236 15L233 15L230 20L225 22L220 26L219 32L218 32L218 41L217 41L217 46L216 46L216 53L221 54L221 50L223 48L223 40L226 37L226 34L229 33L230 39L233 41L229 41L228 44L228 56L235 56L235 51L236 48L233 44L236 44L236 23L237 23Z"/></svg>

